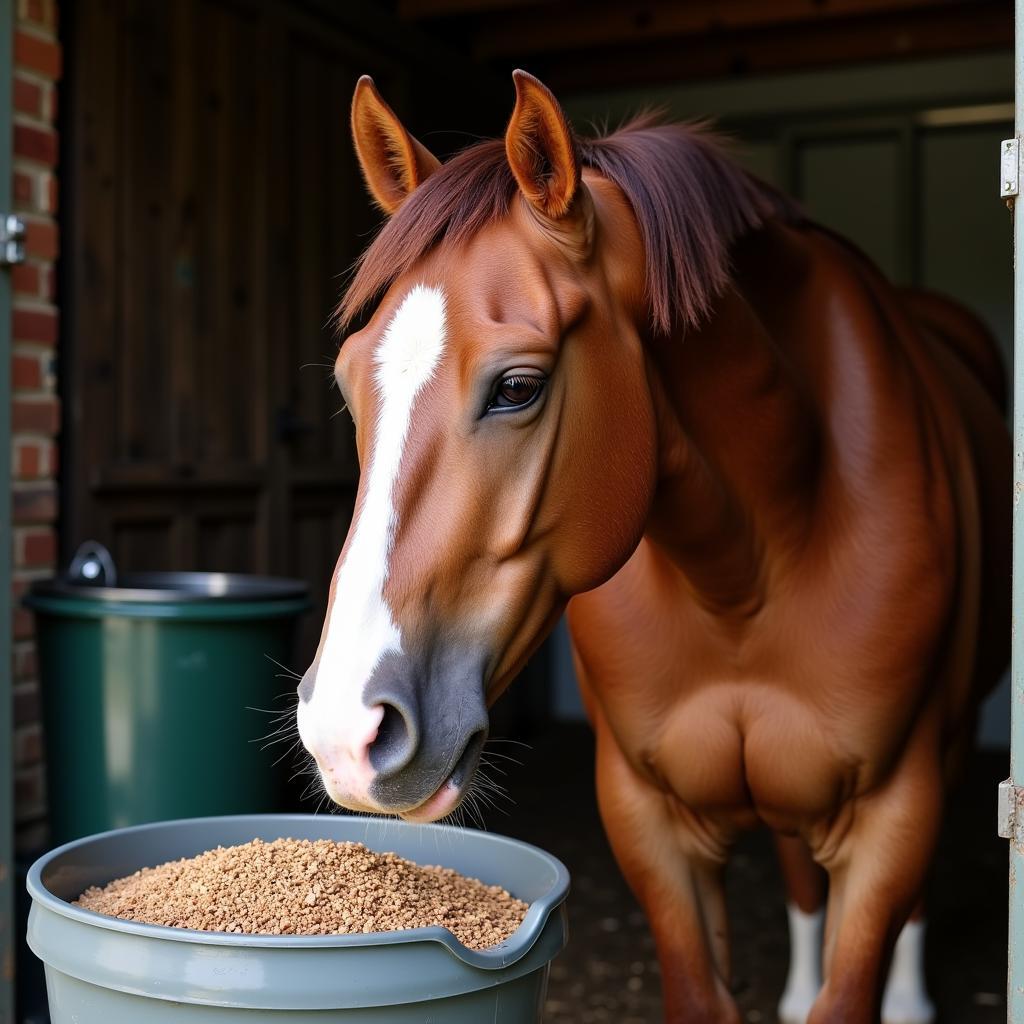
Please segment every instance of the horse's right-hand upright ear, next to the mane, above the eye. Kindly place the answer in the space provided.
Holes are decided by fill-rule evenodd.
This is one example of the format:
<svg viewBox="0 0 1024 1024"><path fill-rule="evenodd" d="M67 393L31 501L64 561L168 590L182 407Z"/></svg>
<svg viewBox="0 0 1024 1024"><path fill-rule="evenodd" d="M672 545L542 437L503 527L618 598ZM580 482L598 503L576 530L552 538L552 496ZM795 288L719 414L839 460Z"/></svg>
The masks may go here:
<svg viewBox="0 0 1024 1024"><path fill-rule="evenodd" d="M580 190L575 138L551 90L524 71L512 72L515 110L505 153L523 196L545 216L564 217Z"/></svg>

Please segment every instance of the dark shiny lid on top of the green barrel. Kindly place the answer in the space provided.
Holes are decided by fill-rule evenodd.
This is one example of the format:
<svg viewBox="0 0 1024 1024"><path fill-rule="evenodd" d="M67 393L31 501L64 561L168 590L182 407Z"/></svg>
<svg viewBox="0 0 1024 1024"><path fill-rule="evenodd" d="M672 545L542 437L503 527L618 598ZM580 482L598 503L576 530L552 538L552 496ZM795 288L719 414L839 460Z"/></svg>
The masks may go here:
<svg viewBox="0 0 1024 1024"><path fill-rule="evenodd" d="M115 587L68 574L32 585L32 597L62 597L118 604L210 601L281 601L304 598L301 580L241 572L122 572Z"/></svg>

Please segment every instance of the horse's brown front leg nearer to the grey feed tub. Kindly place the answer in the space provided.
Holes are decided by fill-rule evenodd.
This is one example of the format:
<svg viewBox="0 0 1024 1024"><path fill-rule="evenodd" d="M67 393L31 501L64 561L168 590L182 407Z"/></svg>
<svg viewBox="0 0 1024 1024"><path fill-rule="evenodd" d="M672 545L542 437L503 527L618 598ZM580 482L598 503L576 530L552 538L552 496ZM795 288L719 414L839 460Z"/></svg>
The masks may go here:
<svg viewBox="0 0 1024 1024"><path fill-rule="evenodd" d="M728 989L724 857L701 852L669 798L597 728L597 793L615 859L647 914L662 967L666 1024L739 1024Z"/></svg>

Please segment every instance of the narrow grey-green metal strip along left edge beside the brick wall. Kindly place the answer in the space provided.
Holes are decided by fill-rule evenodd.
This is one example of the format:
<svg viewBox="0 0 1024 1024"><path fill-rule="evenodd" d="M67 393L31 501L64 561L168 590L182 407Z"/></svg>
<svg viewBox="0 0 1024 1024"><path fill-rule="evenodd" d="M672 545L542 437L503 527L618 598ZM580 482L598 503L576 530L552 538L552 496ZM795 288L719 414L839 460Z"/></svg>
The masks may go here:
<svg viewBox="0 0 1024 1024"><path fill-rule="evenodd" d="M0 0L0 211L10 209L14 14ZM14 1021L14 783L11 742L10 273L0 271L0 1024Z"/></svg>

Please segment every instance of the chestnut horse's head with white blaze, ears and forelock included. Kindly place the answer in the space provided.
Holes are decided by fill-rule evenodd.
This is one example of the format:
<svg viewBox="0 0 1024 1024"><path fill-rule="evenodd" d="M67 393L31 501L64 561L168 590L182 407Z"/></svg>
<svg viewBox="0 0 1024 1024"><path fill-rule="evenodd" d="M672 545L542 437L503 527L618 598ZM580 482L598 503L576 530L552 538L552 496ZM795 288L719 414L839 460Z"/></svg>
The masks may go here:
<svg viewBox="0 0 1024 1024"><path fill-rule="evenodd" d="M444 165L369 78L352 103L389 220L340 314L376 302L336 365L362 473L297 714L335 802L412 820L458 806L488 708L629 558L654 487L635 218L514 80L504 140Z"/></svg>

